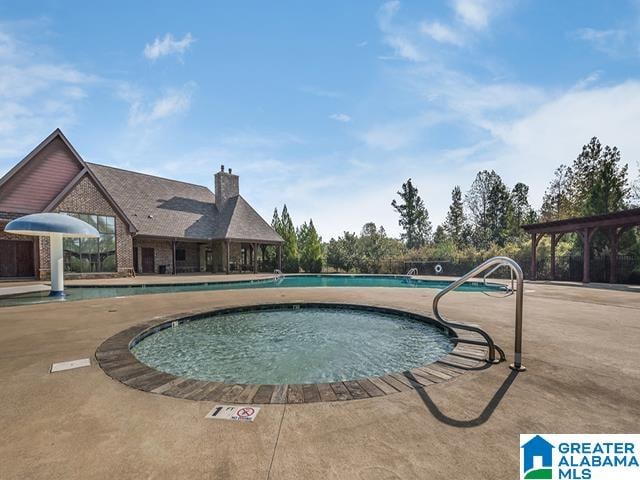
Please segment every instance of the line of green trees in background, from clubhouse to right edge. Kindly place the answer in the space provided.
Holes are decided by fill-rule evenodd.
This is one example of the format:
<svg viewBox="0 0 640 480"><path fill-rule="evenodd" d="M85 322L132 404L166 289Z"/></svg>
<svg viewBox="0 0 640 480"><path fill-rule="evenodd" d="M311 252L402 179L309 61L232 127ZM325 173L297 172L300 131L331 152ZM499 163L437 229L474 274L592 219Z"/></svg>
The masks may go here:
<svg viewBox="0 0 640 480"><path fill-rule="evenodd" d="M594 137L572 164L556 169L538 211L529 202L525 183L508 187L494 170L478 172L464 194L460 185L454 186L446 218L435 229L412 179L402 184L397 196L390 204L399 216L400 239L389 237L384 227L369 222L359 233L345 231L322 243L312 220L295 228L287 207L281 214L276 209L272 225L285 240L284 269L318 272L326 266L346 272L385 273L391 261L524 256L530 242L523 225L634 207L640 201L640 180L632 184L618 148L603 146ZM596 234L596 253L607 248L605 235ZM559 245L561 254L579 249L580 242L569 235ZM640 256L636 231L623 235L620 251Z"/></svg>

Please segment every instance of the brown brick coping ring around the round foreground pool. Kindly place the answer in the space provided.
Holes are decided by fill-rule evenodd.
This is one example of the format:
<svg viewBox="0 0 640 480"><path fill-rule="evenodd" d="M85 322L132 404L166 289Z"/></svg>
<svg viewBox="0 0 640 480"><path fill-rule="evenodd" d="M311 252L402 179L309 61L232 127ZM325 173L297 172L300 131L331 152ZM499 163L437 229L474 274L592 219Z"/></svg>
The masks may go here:
<svg viewBox="0 0 640 480"><path fill-rule="evenodd" d="M246 305L242 307L208 309L155 318L123 330L105 340L96 350L95 357L100 368L111 378L129 387L169 397L196 401L222 402L231 404L284 404L314 403L346 400L360 400L372 397L428 387L447 382L467 371L488 368L485 362L487 348L456 342L453 350L437 361L404 372L345 380L332 383L309 384L232 384L179 377L155 370L140 362L131 352L131 347L141 339L173 322L197 320L210 315L267 310L276 308L326 307L351 308L379 313L401 315L443 327L436 320L414 312L395 308L372 307L350 303L272 303ZM453 340L458 340L458 331L448 330Z"/></svg>

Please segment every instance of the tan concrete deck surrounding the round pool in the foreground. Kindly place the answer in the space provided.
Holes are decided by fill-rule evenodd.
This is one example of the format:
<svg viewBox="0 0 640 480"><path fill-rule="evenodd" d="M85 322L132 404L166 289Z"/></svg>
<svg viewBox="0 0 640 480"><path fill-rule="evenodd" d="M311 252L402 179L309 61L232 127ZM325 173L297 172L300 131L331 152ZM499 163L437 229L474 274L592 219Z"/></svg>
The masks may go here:
<svg viewBox="0 0 640 480"><path fill-rule="evenodd" d="M0 478L513 479L519 433L637 433L636 291L527 283L527 372L502 363L386 397L263 405L253 423L207 420L213 403L129 388L94 358L108 337L158 316L304 301L430 315L435 293L227 290L2 308ZM441 308L487 330L512 360L513 304L460 292ZM86 357L89 368L48 373Z"/></svg>

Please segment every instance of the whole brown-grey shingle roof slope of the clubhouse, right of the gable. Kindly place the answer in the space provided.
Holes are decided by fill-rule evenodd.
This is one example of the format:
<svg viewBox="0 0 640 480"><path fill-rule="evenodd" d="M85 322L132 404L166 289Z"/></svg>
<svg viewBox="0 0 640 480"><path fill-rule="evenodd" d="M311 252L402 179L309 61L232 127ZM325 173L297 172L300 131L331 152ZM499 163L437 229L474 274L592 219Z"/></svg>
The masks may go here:
<svg viewBox="0 0 640 480"><path fill-rule="evenodd" d="M222 212L206 187L95 163L88 168L133 222L138 235L282 242L242 197Z"/></svg>

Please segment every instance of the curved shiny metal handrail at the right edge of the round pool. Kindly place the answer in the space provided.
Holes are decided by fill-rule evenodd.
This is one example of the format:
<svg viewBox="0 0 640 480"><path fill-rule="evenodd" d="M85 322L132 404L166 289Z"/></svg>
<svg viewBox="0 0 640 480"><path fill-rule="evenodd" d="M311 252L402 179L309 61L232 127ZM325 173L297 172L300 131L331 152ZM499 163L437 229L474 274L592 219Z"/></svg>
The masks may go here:
<svg viewBox="0 0 640 480"><path fill-rule="evenodd" d="M438 321L444 323L448 327L458 328L461 330L468 330L481 335L485 339L485 341L487 342L486 344L489 347L489 362L497 363L496 350L498 350L498 352L500 353L500 357L501 357L500 360L504 360L504 352L502 352L502 349L494 343L493 339L489 336L487 332L485 332L479 327L450 322L446 320L442 315L440 315L440 312L438 311L438 303L440 302L440 299L444 297L447 293L451 292L452 290L455 290L470 278L476 277L480 273L496 265L508 266L511 269L511 271L516 275L517 287L516 287L515 346L514 346L514 360L513 360L513 363L510 365L510 367L513 370L523 371L523 370L526 370L524 365L522 365L522 294L523 294L524 276L522 274L522 269L520 268L520 265L518 265L515 260L509 257L490 258L486 262L481 263L476 268L474 268L470 272L460 277L455 282L452 282L446 288L443 288L442 290L440 290L434 297L433 314ZM468 340L466 342L473 343L473 341L468 341Z"/></svg>

